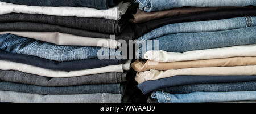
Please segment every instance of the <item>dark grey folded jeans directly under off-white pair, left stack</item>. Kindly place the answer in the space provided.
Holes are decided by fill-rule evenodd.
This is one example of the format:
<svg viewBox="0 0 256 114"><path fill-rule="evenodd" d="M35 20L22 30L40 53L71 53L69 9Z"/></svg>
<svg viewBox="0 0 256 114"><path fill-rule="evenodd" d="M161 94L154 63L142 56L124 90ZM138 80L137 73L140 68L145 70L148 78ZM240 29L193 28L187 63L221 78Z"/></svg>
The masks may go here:
<svg viewBox="0 0 256 114"><path fill-rule="evenodd" d="M126 82L127 72L109 72L101 74L92 74L79 77L68 78L50 78L38 76L35 74L24 73L20 71L0 70L0 81L16 82L20 84L38 85L38 86L76 86L90 84L117 84Z"/></svg>

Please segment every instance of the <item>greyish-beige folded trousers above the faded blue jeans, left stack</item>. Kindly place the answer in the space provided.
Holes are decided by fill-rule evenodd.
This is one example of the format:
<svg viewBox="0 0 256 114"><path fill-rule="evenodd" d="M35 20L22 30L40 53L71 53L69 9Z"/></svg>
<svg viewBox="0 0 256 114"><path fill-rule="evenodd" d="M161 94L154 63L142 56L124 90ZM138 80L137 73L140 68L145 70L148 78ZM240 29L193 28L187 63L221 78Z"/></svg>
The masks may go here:
<svg viewBox="0 0 256 114"><path fill-rule="evenodd" d="M0 34L14 34L16 36L32 38L39 41L53 43L55 45L68 46L93 46L93 47L108 47L117 49L121 47L122 43L106 38L91 38L81 37L72 34L65 34L59 32L0 32Z"/></svg>

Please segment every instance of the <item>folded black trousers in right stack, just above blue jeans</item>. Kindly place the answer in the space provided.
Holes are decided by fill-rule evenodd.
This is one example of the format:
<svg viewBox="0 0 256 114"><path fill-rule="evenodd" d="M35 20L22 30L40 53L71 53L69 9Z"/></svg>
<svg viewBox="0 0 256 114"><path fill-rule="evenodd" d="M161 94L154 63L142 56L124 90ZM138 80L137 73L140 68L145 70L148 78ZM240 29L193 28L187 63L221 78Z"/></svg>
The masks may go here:
<svg viewBox="0 0 256 114"><path fill-rule="evenodd" d="M193 21L228 19L242 16L256 16L256 7L241 7L237 9L220 9L216 11L200 12L189 15L172 16L158 20L148 21L134 26L134 37L139 38L144 34L162 27L163 25Z"/></svg>

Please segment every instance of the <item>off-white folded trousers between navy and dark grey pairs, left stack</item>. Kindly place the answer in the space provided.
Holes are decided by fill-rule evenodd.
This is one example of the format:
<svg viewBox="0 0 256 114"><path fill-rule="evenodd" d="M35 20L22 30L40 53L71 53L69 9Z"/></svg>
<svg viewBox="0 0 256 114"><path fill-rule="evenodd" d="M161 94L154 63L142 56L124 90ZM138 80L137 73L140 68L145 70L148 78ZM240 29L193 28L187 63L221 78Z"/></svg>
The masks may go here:
<svg viewBox="0 0 256 114"><path fill-rule="evenodd" d="M32 65L3 61L3 60L0 60L0 64L1 64L0 65L1 70L14 70L14 71L31 73L31 74L36 74L36 75L45 76L45 77L64 78L64 77L86 76L90 74L98 74L98 73L106 73L106 72L123 72L123 70L130 69L131 60L127 60L125 64L109 65L106 67L79 70L79 71L56 71L51 69L35 67Z"/></svg>

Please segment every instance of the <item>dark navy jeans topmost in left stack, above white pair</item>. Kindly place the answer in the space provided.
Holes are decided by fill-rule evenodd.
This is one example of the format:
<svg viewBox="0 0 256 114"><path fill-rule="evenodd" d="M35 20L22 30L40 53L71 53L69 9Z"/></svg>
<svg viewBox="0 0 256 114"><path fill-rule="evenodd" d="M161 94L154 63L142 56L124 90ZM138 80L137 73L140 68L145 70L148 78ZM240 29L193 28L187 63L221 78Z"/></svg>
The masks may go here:
<svg viewBox="0 0 256 114"><path fill-rule="evenodd" d="M108 9L117 5L120 0L0 0L1 2L14 3L28 6L71 6Z"/></svg>

